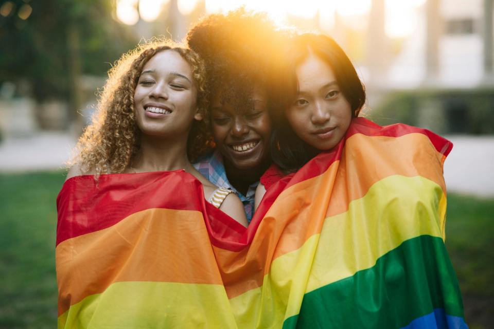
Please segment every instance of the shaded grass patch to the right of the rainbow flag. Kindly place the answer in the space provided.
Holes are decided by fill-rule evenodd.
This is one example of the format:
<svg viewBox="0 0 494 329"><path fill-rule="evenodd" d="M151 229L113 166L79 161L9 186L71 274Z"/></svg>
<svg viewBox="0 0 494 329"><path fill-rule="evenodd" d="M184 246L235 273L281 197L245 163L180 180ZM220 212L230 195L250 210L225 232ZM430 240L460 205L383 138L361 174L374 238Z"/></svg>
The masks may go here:
<svg viewBox="0 0 494 329"><path fill-rule="evenodd" d="M470 329L494 328L494 199L448 194L446 247Z"/></svg>

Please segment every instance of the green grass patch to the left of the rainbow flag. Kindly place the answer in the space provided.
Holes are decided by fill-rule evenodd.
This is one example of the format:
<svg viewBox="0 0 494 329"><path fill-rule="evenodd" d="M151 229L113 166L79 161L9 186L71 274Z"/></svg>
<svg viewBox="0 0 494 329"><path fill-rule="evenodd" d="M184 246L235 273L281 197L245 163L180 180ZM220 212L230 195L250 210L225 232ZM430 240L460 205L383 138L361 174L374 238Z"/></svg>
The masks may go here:
<svg viewBox="0 0 494 329"><path fill-rule="evenodd" d="M62 172L0 175L0 328L56 328Z"/></svg>

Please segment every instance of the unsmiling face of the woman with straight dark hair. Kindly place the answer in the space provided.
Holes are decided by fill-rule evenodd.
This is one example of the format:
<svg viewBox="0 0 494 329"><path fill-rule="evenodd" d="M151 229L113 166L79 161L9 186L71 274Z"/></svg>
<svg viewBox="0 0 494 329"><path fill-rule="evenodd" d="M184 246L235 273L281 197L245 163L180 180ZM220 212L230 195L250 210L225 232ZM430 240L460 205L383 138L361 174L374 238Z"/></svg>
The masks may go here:
<svg viewBox="0 0 494 329"><path fill-rule="evenodd" d="M296 68L298 93L286 116L294 132L311 147L325 151L345 136L351 106L328 63L310 54Z"/></svg>

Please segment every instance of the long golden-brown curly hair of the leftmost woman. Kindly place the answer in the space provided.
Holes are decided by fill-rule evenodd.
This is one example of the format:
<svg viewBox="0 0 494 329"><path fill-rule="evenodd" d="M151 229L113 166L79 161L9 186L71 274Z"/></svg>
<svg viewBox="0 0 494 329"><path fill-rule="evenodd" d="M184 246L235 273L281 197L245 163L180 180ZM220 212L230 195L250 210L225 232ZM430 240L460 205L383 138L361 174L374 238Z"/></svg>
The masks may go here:
<svg viewBox="0 0 494 329"><path fill-rule="evenodd" d="M187 156L195 160L210 150L211 135L207 116L206 71L203 60L190 49L170 40L153 39L123 54L108 71L108 80L99 95L92 124L87 126L76 145L76 156L69 165L78 163L81 172L122 173L139 151L140 131L135 120L134 92L146 63L158 52L176 51L192 68L198 90L198 109L202 121L195 121L187 140Z"/></svg>

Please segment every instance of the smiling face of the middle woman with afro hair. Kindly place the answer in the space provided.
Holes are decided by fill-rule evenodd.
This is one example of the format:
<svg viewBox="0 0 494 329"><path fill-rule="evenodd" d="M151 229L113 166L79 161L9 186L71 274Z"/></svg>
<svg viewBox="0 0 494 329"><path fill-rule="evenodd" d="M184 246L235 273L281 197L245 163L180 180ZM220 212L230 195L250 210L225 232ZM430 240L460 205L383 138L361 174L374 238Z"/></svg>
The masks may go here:
<svg viewBox="0 0 494 329"><path fill-rule="evenodd" d="M235 168L257 169L269 158L271 120L263 90L254 91L252 106L245 109L236 109L215 95L211 99L211 127L217 149Z"/></svg>

